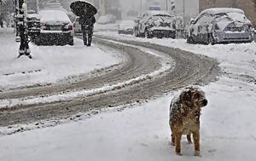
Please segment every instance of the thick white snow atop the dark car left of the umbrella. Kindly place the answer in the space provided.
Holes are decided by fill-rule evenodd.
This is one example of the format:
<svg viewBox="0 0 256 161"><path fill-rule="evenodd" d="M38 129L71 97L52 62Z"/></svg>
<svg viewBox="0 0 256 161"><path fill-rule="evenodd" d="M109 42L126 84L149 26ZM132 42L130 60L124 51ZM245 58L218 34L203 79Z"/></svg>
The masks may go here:
<svg viewBox="0 0 256 161"><path fill-rule="evenodd" d="M39 11L41 22L67 22L71 23L67 14L61 10L41 10Z"/></svg>

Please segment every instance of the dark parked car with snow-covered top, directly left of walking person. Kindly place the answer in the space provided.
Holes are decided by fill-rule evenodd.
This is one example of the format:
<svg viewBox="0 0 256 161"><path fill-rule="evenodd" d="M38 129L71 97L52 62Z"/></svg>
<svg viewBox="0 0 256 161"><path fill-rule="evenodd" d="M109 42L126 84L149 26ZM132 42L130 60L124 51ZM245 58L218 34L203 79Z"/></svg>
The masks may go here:
<svg viewBox="0 0 256 161"><path fill-rule="evenodd" d="M41 32L35 39L40 45L73 45L73 24L61 10L42 10L39 12Z"/></svg>

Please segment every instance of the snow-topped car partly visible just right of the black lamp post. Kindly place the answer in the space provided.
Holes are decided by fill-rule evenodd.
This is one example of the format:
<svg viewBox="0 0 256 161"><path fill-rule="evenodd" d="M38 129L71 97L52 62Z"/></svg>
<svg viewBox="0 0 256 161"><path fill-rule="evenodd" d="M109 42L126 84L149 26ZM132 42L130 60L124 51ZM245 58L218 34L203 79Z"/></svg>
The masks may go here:
<svg viewBox="0 0 256 161"><path fill-rule="evenodd" d="M27 11L27 26L28 26L28 35L34 39L40 34L40 16L36 14L34 10Z"/></svg>

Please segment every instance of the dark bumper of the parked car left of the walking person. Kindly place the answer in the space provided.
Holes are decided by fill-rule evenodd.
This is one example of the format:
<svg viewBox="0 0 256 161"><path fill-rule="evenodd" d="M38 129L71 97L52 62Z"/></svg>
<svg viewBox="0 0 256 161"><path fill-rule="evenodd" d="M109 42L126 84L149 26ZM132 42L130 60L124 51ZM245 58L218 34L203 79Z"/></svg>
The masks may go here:
<svg viewBox="0 0 256 161"><path fill-rule="evenodd" d="M40 32L36 42L44 45L64 45L73 40L73 32Z"/></svg>

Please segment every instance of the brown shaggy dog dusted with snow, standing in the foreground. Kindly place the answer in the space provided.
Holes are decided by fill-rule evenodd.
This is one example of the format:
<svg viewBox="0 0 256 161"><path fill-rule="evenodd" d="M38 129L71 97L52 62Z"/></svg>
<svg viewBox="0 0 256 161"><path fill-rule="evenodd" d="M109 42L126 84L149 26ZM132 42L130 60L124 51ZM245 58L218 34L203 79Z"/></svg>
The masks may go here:
<svg viewBox="0 0 256 161"><path fill-rule="evenodd" d="M184 88L172 99L169 124L172 131L172 145L175 146L177 155L182 155L182 135L187 135L189 144L191 144L192 134L195 144L195 156L201 156L200 115L201 107L207 106L207 102L205 92L195 86Z"/></svg>

